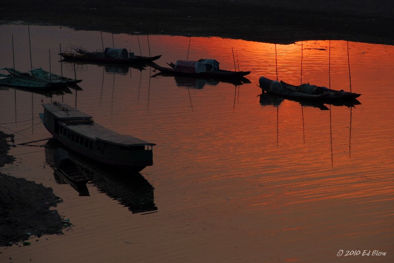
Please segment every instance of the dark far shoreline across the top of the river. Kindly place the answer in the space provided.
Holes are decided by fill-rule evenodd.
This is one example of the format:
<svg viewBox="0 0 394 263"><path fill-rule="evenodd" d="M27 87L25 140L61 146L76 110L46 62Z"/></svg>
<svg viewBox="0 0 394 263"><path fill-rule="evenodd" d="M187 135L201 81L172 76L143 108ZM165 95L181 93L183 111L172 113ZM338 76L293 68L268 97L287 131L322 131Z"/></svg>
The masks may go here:
<svg viewBox="0 0 394 263"><path fill-rule="evenodd" d="M23 7L23 8L21 8ZM218 36L290 44L348 40L394 45L394 2L145 0L5 1L11 21L112 33Z"/></svg>

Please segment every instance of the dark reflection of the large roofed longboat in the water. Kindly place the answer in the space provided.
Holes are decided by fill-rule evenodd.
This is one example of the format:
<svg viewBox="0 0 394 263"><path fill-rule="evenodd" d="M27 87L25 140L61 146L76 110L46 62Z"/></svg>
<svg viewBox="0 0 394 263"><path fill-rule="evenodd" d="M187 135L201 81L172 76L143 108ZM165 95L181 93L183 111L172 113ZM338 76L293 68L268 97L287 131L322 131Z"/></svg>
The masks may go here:
<svg viewBox="0 0 394 263"><path fill-rule="evenodd" d="M46 152L52 152L53 156L55 148L62 145L56 139L50 139L47 146ZM153 212L158 209L154 203L154 188L140 173L131 174L125 170L110 169L87 160L70 149L66 150L72 161L88 176L89 184L128 207L132 213ZM53 165L50 158L53 160L53 157L47 157L47 163ZM84 189L76 190L83 195L81 191Z"/></svg>

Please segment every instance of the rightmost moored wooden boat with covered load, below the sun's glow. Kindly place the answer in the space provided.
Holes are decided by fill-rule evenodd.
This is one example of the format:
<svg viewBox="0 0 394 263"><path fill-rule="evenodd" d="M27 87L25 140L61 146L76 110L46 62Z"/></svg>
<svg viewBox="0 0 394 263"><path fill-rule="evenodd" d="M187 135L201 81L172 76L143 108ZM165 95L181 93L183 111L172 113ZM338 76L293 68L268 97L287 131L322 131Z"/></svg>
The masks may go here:
<svg viewBox="0 0 394 263"><path fill-rule="evenodd" d="M319 87L316 85L302 84L299 86L290 85L283 81L273 81L264 77L259 79L260 88L264 91L283 97L310 99L310 100L325 100L340 101L340 100L354 100L361 94L347 92L344 90L328 89L326 87Z"/></svg>

